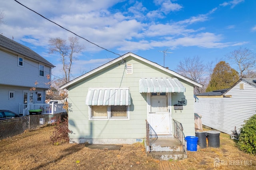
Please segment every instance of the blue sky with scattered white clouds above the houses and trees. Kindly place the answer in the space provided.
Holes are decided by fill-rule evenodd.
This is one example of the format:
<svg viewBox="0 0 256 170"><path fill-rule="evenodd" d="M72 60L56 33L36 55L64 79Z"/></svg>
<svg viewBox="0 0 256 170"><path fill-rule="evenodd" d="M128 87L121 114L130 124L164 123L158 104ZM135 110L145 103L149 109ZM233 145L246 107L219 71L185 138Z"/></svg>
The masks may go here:
<svg viewBox="0 0 256 170"><path fill-rule="evenodd" d="M176 70L186 57L205 63L225 59L239 47L256 52L255 0L17 0L75 34L123 55L135 53ZM28 10L15 0L0 0L4 24L0 34L30 47L56 67L58 55L48 53L49 38L74 34ZM119 57L78 38L86 48L72 75L80 76ZM172 52L164 53L161 51Z"/></svg>

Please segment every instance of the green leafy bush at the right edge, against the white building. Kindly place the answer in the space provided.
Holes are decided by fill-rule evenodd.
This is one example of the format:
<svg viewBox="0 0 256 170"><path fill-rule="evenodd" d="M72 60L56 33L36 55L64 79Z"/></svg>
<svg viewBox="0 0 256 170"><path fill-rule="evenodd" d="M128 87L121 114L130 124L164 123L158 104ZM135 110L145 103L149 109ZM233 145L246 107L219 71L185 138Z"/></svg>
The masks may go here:
<svg viewBox="0 0 256 170"><path fill-rule="evenodd" d="M256 115L253 115L240 129L238 148L250 154L256 154Z"/></svg>

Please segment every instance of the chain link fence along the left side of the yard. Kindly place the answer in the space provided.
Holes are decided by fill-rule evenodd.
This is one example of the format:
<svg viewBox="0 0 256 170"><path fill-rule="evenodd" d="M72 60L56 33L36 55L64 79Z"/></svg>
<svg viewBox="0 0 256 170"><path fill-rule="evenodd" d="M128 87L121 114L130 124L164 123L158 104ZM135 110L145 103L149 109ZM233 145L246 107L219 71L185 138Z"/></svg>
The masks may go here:
<svg viewBox="0 0 256 170"><path fill-rule="evenodd" d="M23 133L25 130L34 130L47 124L63 121L67 113L54 115L30 115L0 121L0 140Z"/></svg>

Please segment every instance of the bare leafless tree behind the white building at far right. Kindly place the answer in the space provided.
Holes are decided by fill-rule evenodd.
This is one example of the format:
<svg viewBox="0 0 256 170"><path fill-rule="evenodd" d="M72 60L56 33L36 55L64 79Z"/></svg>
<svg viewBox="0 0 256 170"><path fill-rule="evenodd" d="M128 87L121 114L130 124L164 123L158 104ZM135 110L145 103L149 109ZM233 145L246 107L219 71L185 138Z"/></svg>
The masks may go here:
<svg viewBox="0 0 256 170"><path fill-rule="evenodd" d="M225 55L232 63L238 65L237 71L240 78L249 78L252 69L255 68L256 54L248 48L235 49ZM247 74L246 74L247 72Z"/></svg>

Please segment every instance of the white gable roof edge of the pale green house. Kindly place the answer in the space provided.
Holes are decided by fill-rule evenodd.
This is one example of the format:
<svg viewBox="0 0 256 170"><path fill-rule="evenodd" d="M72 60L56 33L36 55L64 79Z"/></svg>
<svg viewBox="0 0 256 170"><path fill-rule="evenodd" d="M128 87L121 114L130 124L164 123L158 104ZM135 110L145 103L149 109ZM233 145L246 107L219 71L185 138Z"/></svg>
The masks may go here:
<svg viewBox="0 0 256 170"><path fill-rule="evenodd" d="M135 55L134 53L129 52L129 53L126 53L126 54L124 54L124 55L122 55L122 56L120 56L120 57L118 57L118 58L116 58L116 59L114 59L114 60L112 60L112 61L110 61L110 62L108 62L108 63L106 63L106 64L104 64L104 65L102 65L100 67L98 67L98 68L96 68L96 69L93 69L92 71L90 71L88 73L85 73L84 75L81 75L80 77L77 77L76 79L74 79L74 80L72 80L72 81L62 85L60 87L60 89L68 89L68 87L70 87L70 86L72 86L72 85L82 81L83 79L89 77L90 75L93 75L94 73L96 73L98 71L101 71L102 69L104 69L104 68L106 68L106 67L108 67L108 66L110 66L112 64L115 64L115 63L118 63L120 61L123 61L125 58L130 57L130 56L132 56L132 57L134 57L134 58L136 58L136 59L138 59L140 61L144 61L144 62L146 62L146 63L148 63L148 64L150 64L150 65L152 65L154 67L157 67L158 69L161 69L161 70L165 71L166 73L170 73L170 74L174 75L177 78L180 78L180 79L183 79L183 80L185 80L185 81L187 81L189 83L192 83L195 86L202 87L202 85L200 83L192 81L191 79L188 79L188 78L186 78L186 77L184 77L184 76L182 76L182 75L180 75L180 74L178 74L178 73L176 73L176 72L174 72L172 70L166 69L165 67L163 67L161 65L158 65L157 63L153 63L152 61L149 61L149 60L147 60L145 58L142 58L142 57L140 57L138 55Z"/></svg>

